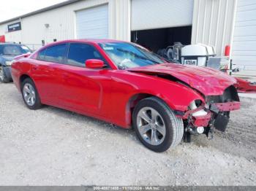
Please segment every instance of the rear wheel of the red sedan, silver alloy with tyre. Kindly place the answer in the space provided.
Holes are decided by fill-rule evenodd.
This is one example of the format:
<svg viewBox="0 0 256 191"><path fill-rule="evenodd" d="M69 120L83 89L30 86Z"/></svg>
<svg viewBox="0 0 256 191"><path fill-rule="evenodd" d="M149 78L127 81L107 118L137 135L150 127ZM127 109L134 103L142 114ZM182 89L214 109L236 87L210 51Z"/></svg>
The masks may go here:
<svg viewBox="0 0 256 191"><path fill-rule="evenodd" d="M21 83L21 92L23 101L29 109L39 109L42 107L39 94L37 92L37 87L30 78L26 78Z"/></svg>

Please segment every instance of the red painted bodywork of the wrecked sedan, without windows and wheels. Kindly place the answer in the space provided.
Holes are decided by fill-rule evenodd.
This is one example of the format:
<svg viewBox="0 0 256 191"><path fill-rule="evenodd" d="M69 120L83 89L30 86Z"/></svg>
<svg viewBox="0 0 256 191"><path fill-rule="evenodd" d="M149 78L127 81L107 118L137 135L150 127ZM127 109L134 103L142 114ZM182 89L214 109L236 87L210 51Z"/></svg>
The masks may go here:
<svg viewBox="0 0 256 191"><path fill-rule="evenodd" d="M38 50L27 58L16 59L12 64L12 78L18 90L20 90L20 78L27 75L34 80L42 104L97 117L123 128L130 127L131 108L138 102L138 98L143 96L152 95L161 98L173 111L185 113L192 101L201 100L204 103L206 95L222 95L225 88L236 84L236 79L218 71L175 63L118 70L98 45L99 42L116 41L64 42L93 45L108 61L111 69L88 69L39 61L36 59L40 51ZM171 81L155 74L171 75L181 82Z"/></svg>

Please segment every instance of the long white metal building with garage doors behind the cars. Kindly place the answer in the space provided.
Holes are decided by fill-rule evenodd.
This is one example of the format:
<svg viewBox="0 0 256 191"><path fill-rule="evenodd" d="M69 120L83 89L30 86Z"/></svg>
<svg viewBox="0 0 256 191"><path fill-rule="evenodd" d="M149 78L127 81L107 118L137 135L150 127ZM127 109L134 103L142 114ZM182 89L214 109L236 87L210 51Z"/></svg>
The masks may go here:
<svg viewBox="0 0 256 191"><path fill-rule="evenodd" d="M151 50L173 42L231 46L240 74L256 76L255 0L69 0L0 23L0 36L33 48L63 39L110 38Z"/></svg>

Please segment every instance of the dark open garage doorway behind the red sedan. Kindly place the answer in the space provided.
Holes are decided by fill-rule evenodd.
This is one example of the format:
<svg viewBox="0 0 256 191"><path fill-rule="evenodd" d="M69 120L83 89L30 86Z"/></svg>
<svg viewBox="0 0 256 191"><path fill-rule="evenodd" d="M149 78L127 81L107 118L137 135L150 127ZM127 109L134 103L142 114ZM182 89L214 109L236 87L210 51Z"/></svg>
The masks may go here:
<svg viewBox="0 0 256 191"><path fill-rule="evenodd" d="M132 31L131 41L146 47L157 53L174 44L191 44L192 26L181 26L172 28L157 28L142 31Z"/></svg>

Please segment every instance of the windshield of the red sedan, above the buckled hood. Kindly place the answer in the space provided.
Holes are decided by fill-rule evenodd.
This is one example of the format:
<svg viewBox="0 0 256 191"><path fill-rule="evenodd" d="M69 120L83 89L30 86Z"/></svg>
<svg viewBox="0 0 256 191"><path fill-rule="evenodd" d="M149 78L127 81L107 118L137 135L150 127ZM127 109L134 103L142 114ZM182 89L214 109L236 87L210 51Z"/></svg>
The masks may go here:
<svg viewBox="0 0 256 191"><path fill-rule="evenodd" d="M143 47L126 42L100 43L118 69L129 69L165 63L165 59Z"/></svg>

